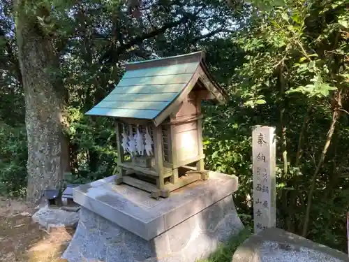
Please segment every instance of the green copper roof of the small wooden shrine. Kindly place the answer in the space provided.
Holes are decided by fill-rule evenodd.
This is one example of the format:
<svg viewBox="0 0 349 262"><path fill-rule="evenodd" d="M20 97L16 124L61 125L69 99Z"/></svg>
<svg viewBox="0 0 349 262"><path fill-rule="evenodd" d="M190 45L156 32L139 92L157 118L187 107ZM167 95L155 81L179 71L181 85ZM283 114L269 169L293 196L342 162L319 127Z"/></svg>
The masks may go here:
<svg viewBox="0 0 349 262"><path fill-rule="evenodd" d="M126 64L126 73L115 89L86 114L155 119L189 84L195 84L204 54L195 52Z"/></svg>

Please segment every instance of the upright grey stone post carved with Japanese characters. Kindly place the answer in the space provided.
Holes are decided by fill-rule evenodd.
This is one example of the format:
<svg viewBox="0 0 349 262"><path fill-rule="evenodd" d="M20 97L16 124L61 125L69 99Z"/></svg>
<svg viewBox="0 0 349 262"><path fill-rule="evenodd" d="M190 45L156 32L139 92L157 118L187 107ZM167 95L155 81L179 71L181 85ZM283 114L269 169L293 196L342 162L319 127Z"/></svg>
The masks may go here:
<svg viewBox="0 0 349 262"><path fill-rule="evenodd" d="M252 152L254 230L259 233L276 226L275 127L253 127Z"/></svg>

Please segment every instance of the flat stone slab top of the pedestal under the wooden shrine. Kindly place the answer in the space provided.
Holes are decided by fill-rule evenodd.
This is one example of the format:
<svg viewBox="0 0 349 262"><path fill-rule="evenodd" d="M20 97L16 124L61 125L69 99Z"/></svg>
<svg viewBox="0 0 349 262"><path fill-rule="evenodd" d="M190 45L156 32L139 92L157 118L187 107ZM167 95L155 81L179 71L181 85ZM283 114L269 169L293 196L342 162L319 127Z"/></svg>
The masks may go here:
<svg viewBox="0 0 349 262"><path fill-rule="evenodd" d="M156 201L145 191L114 184L114 178L75 187L74 201L145 240L168 231L237 190L237 177L210 171L209 180L193 182L171 192L170 198Z"/></svg>

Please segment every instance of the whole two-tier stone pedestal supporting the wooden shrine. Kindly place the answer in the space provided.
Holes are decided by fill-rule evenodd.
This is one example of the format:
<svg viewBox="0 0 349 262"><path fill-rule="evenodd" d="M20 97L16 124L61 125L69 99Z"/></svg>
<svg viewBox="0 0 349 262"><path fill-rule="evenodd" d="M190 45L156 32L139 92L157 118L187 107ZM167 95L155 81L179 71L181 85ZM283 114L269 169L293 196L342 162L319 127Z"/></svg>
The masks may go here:
<svg viewBox="0 0 349 262"><path fill-rule="evenodd" d="M194 262L242 228L232 193L237 177L210 173L156 201L114 177L74 189L80 221L63 255L69 262Z"/></svg>

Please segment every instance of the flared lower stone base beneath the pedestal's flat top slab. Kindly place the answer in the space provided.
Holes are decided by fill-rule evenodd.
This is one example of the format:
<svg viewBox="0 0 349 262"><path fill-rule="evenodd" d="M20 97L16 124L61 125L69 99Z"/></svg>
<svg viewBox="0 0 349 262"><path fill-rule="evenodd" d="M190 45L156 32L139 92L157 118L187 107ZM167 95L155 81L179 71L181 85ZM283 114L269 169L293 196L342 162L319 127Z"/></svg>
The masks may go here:
<svg viewBox="0 0 349 262"><path fill-rule="evenodd" d="M87 208L80 212L77 231L62 256L69 262L194 262L244 227L231 195L151 240Z"/></svg>

